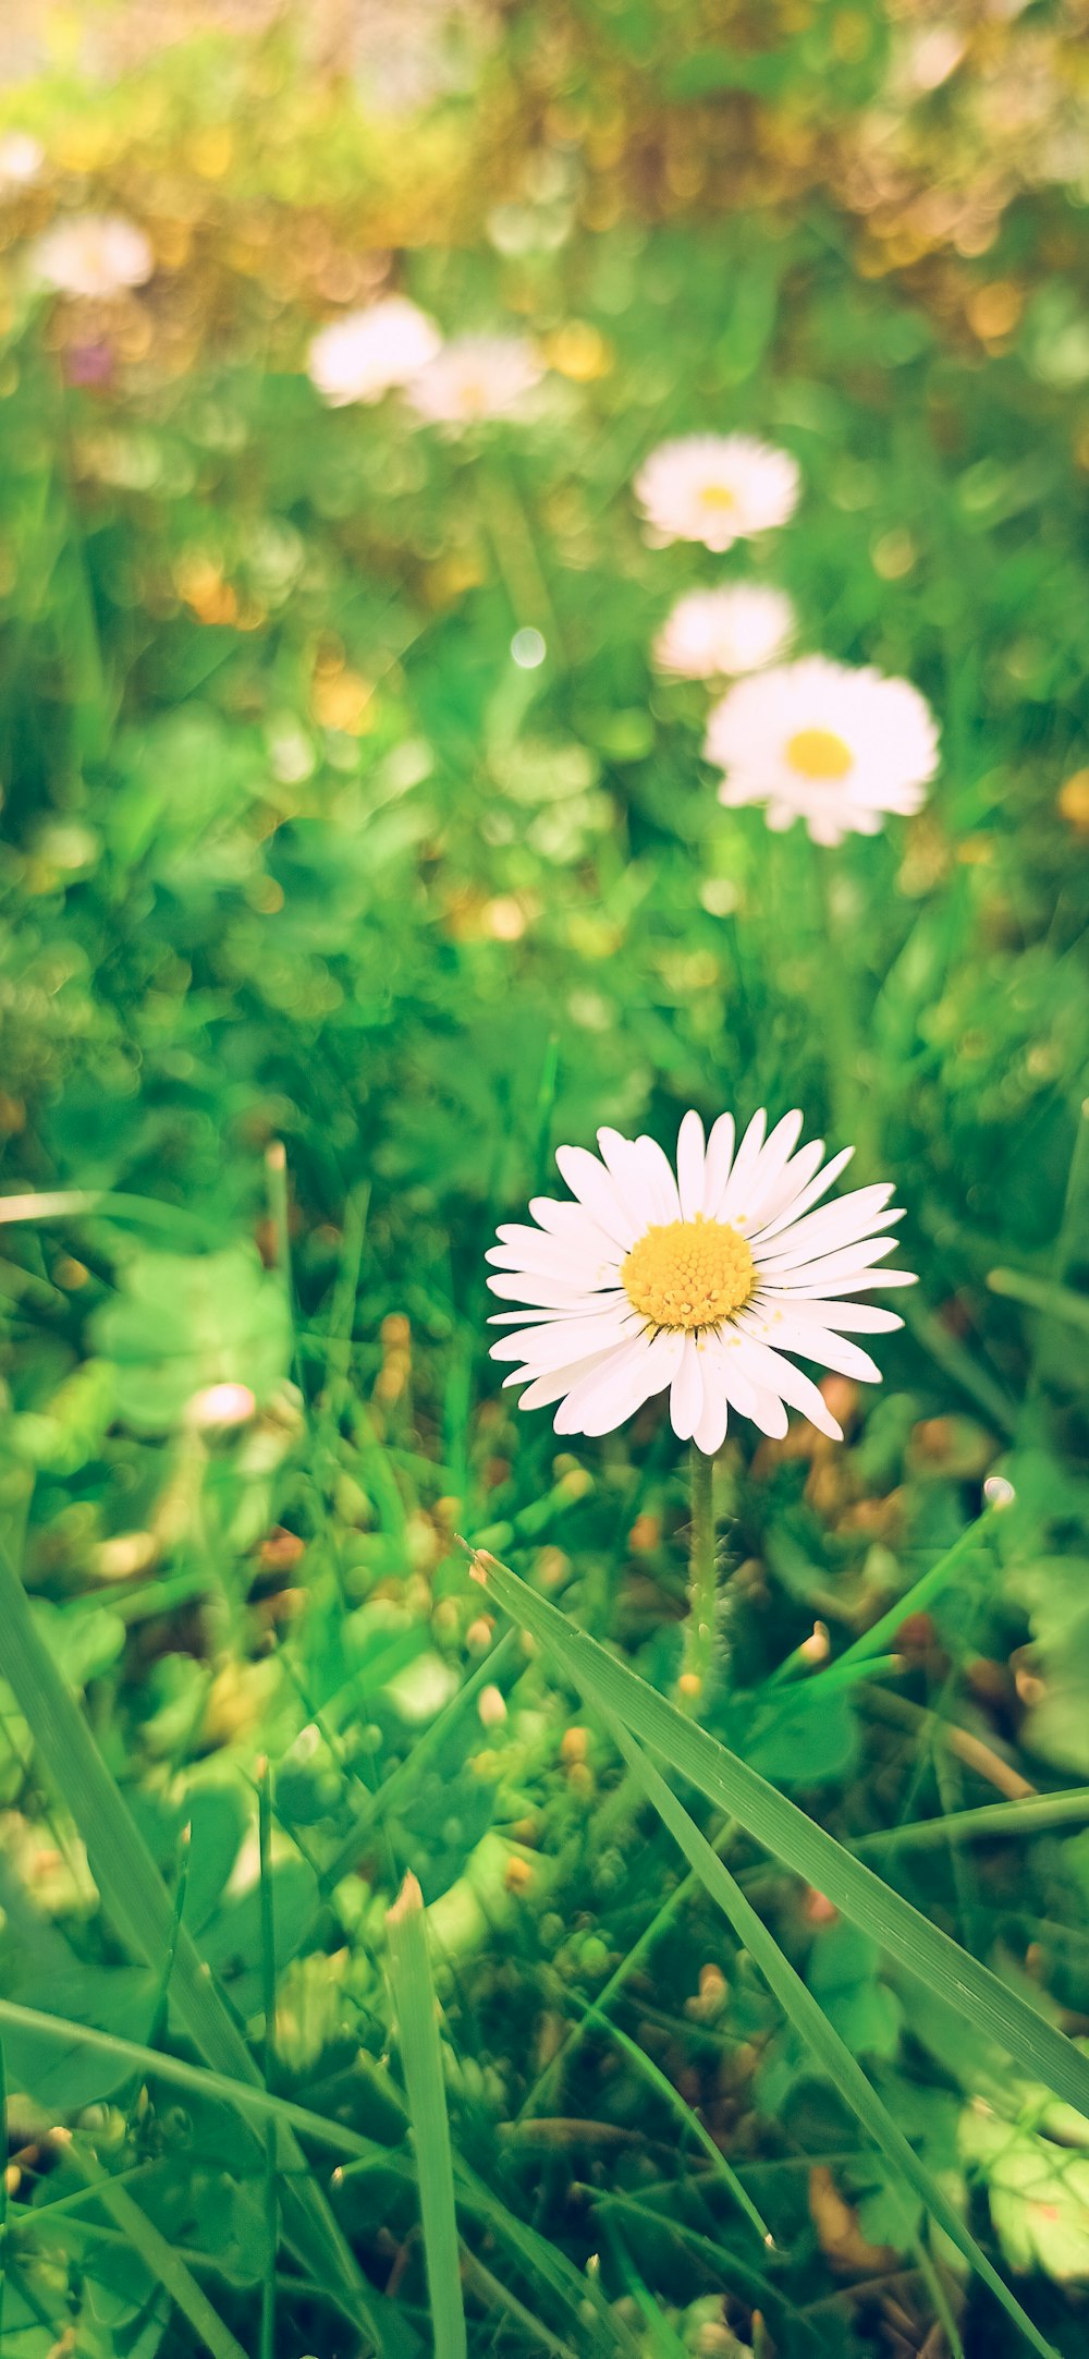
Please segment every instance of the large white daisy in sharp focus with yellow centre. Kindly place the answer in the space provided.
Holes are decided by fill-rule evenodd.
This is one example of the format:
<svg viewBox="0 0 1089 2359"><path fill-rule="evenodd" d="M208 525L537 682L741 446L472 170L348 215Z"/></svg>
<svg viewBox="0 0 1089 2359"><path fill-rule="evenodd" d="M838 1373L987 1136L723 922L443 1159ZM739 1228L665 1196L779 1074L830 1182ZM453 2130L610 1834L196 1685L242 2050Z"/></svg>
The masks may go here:
<svg viewBox="0 0 1089 2359"><path fill-rule="evenodd" d="M606 1434L651 1394L669 1387L681 1441L707 1456L728 1411L764 1434L787 1432L787 1404L842 1441L808 1359L839 1375L879 1382L882 1371L851 1335L903 1326L853 1297L870 1286L912 1286L905 1269L877 1269L896 1248L884 1231L891 1187L860 1187L818 1205L853 1149L823 1165L825 1142L799 1149L801 1113L766 1137L757 1113L735 1151L733 1116L702 1137L686 1113L676 1172L648 1137L599 1130L601 1161L559 1146L575 1203L535 1196L537 1227L500 1229L488 1260L495 1295L528 1309L502 1312L514 1328L493 1359L516 1361L507 1385L526 1385L521 1408L559 1401L559 1434Z"/></svg>

